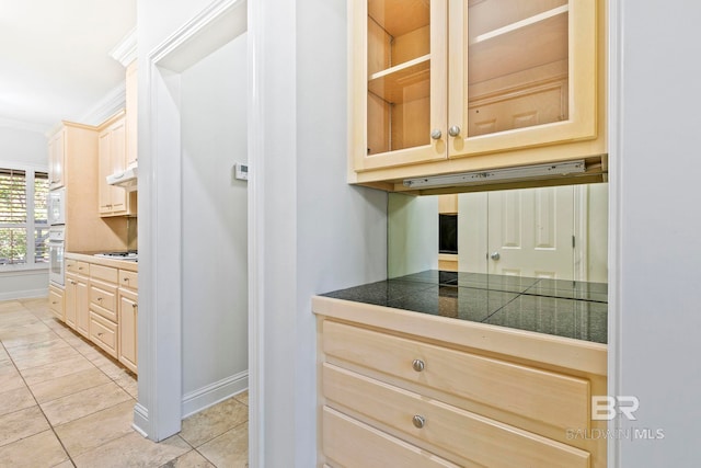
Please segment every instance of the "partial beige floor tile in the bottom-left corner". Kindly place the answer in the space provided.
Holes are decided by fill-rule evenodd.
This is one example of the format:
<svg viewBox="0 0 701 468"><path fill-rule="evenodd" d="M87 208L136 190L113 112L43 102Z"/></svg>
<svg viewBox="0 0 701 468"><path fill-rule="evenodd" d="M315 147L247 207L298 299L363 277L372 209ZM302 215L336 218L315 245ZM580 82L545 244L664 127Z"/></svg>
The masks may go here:
<svg viewBox="0 0 701 468"><path fill-rule="evenodd" d="M65 465L68 463L68 465ZM3 467L72 467L68 455L53 431L44 431L0 447L0 466Z"/></svg>

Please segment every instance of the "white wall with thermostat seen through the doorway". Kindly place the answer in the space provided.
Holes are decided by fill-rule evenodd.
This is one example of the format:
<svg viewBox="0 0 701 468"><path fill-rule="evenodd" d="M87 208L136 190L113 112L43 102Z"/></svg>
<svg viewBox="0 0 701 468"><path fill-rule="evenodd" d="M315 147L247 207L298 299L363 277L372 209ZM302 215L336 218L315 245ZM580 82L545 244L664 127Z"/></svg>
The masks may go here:
<svg viewBox="0 0 701 468"><path fill-rule="evenodd" d="M245 35L181 76L184 416L248 388L246 93Z"/></svg>

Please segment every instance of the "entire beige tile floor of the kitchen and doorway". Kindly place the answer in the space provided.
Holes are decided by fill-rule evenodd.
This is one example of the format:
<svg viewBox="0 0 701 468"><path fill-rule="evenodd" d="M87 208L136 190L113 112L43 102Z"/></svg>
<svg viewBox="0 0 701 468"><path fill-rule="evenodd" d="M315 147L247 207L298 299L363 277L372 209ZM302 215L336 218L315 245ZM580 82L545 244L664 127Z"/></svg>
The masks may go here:
<svg viewBox="0 0 701 468"><path fill-rule="evenodd" d="M135 376L46 299L0 301L0 468L248 466L248 392L158 444L131 429L136 398Z"/></svg>

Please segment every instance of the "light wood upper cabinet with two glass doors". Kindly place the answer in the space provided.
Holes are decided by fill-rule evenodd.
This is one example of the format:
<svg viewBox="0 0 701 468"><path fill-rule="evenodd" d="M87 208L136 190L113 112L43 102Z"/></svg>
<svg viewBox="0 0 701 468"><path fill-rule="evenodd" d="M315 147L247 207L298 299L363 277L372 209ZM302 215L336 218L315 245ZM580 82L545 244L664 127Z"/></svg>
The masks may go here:
<svg viewBox="0 0 701 468"><path fill-rule="evenodd" d="M604 1L350 2L350 182L600 164Z"/></svg>

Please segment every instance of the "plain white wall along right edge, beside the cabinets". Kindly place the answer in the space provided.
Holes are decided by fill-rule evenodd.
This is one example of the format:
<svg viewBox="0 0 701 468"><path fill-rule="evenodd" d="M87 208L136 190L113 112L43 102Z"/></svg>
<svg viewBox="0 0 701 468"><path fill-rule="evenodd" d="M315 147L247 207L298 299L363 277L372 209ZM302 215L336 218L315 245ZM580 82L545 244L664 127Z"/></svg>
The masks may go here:
<svg viewBox="0 0 701 468"><path fill-rule="evenodd" d="M612 0L609 368L612 395L640 399L623 427L621 467L696 467L701 459L701 4ZM610 444L612 447L613 444ZM616 453L613 453L616 457Z"/></svg>

